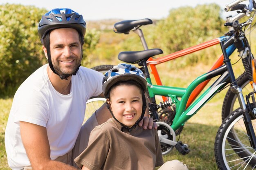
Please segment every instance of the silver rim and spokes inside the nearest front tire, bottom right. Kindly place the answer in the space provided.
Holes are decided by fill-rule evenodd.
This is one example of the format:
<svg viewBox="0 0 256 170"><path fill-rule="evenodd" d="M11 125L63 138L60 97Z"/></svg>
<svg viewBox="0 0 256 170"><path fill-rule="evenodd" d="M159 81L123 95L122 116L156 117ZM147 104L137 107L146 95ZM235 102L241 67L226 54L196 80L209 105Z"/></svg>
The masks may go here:
<svg viewBox="0 0 256 170"><path fill-rule="evenodd" d="M226 130L223 129L221 144L225 167L227 170L252 170L256 167L256 151L250 145L242 113L237 113L229 121Z"/></svg>

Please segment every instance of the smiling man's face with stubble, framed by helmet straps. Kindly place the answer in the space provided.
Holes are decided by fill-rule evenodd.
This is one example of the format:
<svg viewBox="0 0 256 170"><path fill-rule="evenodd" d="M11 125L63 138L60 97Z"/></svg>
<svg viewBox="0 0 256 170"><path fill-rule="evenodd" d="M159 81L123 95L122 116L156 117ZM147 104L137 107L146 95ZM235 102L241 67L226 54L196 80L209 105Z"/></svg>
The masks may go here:
<svg viewBox="0 0 256 170"><path fill-rule="evenodd" d="M78 32L71 28L54 29L50 33L50 51L56 72L72 75L82 60Z"/></svg>

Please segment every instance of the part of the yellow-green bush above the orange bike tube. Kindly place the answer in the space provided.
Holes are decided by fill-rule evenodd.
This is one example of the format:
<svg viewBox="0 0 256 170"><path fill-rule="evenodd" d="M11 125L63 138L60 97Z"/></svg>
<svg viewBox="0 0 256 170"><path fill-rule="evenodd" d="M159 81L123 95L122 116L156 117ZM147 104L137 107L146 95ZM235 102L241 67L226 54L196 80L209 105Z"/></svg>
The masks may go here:
<svg viewBox="0 0 256 170"><path fill-rule="evenodd" d="M218 38L223 29L217 4L172 9L168 17L157 23L155 44L173 53L206 40Z"/></svg>

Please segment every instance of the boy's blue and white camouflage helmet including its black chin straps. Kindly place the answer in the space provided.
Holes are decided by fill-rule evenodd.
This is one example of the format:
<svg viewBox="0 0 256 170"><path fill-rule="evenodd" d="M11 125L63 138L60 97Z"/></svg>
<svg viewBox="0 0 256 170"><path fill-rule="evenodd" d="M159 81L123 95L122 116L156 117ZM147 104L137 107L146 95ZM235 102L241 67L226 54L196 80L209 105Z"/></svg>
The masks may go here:
<svg viewBox="0 0 256 170"><path fill-rule="evenodd" d="M144 73L139 68L135 67L134 65L125 64L125 63L118 64L117 66L113 66L109 71L107 71L105 73L105 75L103 77L103 81L102 81L102 91L103 91L103 94L105 95L106 99L109 99L110 89L114 84L116 84L118 82L130 81L130 80L136 82L139 86L141 86L143 92L145 93L145 91L147 89L147 81L145 79ZM147 108L146 97L145 97L144 93L142 94L142 101L143 101L142 105L143 106L142 106L141 117L140 117L140 119L138 119L136 121L136 123L131 128L125 126L124 124L122 124L115 118L115 116L113 115L112 110L110 109L110 106L107 102L108 110L110 110L112 117L119 124L121 124L122 131L124 130L124 128L127 129L128 131L131 131L143 119L145 112L146 112L146 108Z"/></svg>

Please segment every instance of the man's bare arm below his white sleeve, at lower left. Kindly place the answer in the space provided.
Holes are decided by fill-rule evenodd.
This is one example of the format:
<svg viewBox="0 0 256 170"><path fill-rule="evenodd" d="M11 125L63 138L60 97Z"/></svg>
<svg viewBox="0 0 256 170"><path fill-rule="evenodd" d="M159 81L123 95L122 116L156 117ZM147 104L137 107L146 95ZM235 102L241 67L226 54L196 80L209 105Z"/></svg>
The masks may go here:
<svg viewBox="0 0 256 170"><path fill-rule="evenodd" d="M77 170L65 163L51 160L45 127L20 121L20 135L33 170Z"/></svg>

